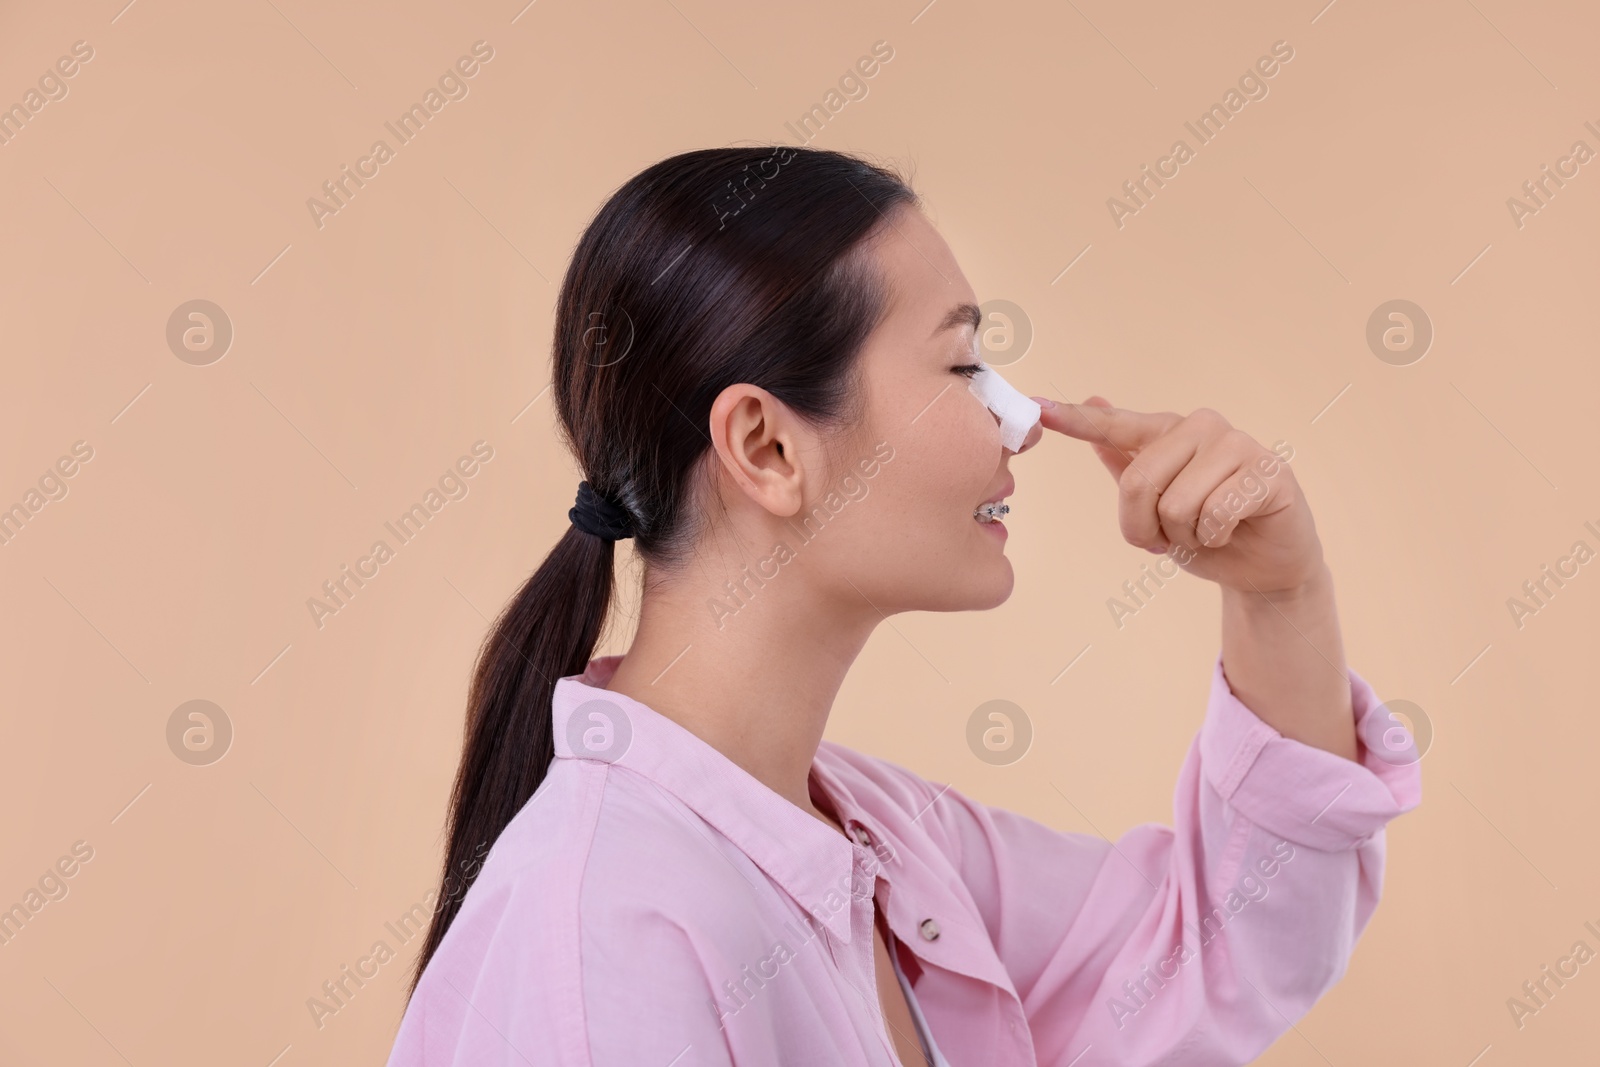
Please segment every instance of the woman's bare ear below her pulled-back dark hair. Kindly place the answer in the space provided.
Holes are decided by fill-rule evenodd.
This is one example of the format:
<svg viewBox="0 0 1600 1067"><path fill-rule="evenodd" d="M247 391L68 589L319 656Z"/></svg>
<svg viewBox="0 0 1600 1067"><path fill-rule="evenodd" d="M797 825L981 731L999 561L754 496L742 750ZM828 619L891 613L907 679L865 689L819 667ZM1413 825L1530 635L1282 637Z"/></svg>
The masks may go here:
<svg viewBox="0 0 1600 1067"><path fill-rule="evenodd" d="M800 510L808 440L786 403L760 386L728 386L710 405L710 443L746 496L773 515Z"/></svg>

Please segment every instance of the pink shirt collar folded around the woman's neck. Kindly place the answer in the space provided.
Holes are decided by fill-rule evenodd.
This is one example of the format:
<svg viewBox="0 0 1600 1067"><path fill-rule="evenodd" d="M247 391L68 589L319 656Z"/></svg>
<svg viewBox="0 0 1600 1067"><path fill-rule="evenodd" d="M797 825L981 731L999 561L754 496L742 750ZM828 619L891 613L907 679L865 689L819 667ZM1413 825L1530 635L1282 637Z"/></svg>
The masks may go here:
<svg viewBox="0 0 1600 1067"><path fill-rule="evenodd" d="M602 760L640 774L682 800L733 841L784 893L842 942L850 942L858 862L867 849L773 792L738 763L651 707L605 688L622 656L589 661L555 681L550 729L558 760ZM813 765L846 829L854 801ZM866 886L870 894L870 875Z"/></svg>

